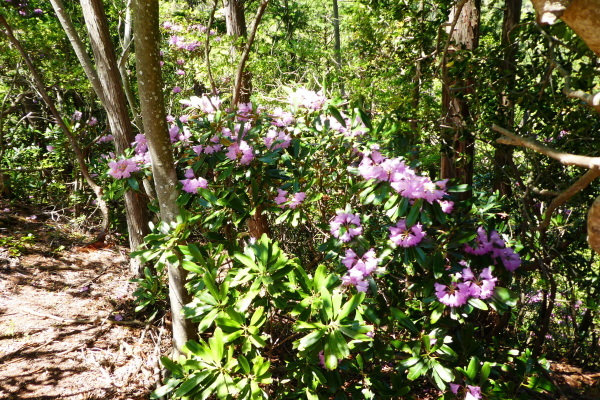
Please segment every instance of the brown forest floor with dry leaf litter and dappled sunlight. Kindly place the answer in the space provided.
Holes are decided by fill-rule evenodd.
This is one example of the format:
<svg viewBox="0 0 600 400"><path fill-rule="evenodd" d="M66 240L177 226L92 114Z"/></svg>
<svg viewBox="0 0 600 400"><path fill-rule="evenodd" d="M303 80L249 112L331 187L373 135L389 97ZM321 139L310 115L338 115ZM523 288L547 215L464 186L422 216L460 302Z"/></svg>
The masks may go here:
<svg viewBox="0 0 600 400"><path fill-rule="evenodd" d="M134 313L128 249L92 240L0 199L0 399L148 399L160 381L168 327ZM600 399L600 372L552 374L562 399Z"/></svg>

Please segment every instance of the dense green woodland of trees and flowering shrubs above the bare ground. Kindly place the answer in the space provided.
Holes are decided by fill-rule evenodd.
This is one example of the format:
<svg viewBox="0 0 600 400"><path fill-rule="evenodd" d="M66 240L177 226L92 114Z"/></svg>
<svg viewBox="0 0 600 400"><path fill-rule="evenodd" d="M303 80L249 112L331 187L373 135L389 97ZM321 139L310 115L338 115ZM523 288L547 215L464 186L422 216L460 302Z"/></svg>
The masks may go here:
<svg viewBox="0 0 600 400"><path fill-rule="evenodd" d="M153 398L559 398L549 359L600 367L600 1L0 25L0 197L129 246L172 320Z"/></svg>

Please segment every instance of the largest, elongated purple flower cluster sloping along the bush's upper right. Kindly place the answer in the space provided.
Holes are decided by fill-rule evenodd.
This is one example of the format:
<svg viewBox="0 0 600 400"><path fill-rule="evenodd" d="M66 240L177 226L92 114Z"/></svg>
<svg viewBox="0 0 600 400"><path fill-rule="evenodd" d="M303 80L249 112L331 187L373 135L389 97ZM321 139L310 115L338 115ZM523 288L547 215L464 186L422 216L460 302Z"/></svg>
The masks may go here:
<svg viewBox="0 0 600 400"><path fill-rule="evenodd" d="M375 149L370 156L365 156L358 172L364 179L376 179L389 182L390 186L403 197L411 200L425 199L430 204L437 201L444 212L452 210L453 203L442 200L446 195L447 179L432 182L426 176L419 176L400 158L386 158Z"/></svg>

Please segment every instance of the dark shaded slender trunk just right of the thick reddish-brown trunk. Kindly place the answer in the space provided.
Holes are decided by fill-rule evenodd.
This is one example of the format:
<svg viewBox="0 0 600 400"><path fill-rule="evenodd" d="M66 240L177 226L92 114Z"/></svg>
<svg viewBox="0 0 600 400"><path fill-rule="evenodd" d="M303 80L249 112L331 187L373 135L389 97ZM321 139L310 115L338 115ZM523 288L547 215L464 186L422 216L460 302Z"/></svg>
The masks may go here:
<svg viewBox="0 0 600 400"><path fill-rule="evenodd" d="M504 8L504 21L502 23L502 48L504 49L504 60L502 62L502 75L505 82L504 87L510 90L515 87L516 53L517 43L511 40L512 30L519 24L521 19L522 0L506 0ZM500 124L501 126L513 127L515 124L514 101L506 91L500 94ZM509 179L511 166L513 164L513 147L505 144L497 144L494 151L494 191L501 195L510 197L512 185Z"/></svg>

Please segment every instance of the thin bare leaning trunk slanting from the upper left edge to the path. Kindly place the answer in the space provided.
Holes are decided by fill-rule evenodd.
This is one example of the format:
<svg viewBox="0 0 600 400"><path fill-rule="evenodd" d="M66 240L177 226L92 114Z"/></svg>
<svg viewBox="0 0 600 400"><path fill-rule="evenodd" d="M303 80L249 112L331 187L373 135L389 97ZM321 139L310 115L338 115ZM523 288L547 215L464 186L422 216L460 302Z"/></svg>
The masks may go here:
<svg viewBox="0 0 600 400"><path fill-rule="evenodd" d="M56 124L60 127L60 129L63 131L63 133L69 140L69 144L71 145L71 149L75 153L75 157L77 159L79 169L81 170L81 174L83 175L83 178L87 182L88 186L94 191L94 194L96 195L96 201L102 213L102 225L100 228L100 233L98 233L96 240L103 241L106 236L106 233L108 232L110 218L108 205L106 204L106 201L103 198L102 187L98 186L96 182L94 182L94 179L90 176L87 164L85 162L85 157L83 155L83 151L79 147L75 136L73 136L73 133L71 132L69 127L64 123L62 116L60 115L60 113L56 109L56 106L54 105L54 101L52 100L52 98L50 98L50 96L48 96L48 92L46 92L46 88L44 86L42 77L37 72L35 66L33 65L33 62L27 55L27 52L25 52L25 49L23 49L23 47L21 46L21 43L19 43L17 38L14 36L10 25L8 24L6 19L4 19L4 16L2 14L0 14L0 25L4 27L3 33L8 37L12 45L15 46L15 48L19 51L21 57L23 57L23 60L25 61L25 64L29 68L31 76L33 77L35 88L37 89L40 96L42 96L42 99L44 99L44 102L50 109L52 116L56 120Z"/></svg>

